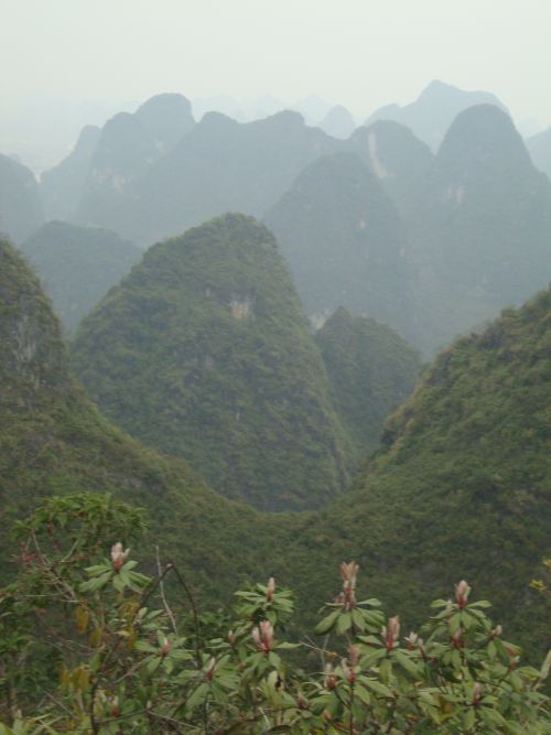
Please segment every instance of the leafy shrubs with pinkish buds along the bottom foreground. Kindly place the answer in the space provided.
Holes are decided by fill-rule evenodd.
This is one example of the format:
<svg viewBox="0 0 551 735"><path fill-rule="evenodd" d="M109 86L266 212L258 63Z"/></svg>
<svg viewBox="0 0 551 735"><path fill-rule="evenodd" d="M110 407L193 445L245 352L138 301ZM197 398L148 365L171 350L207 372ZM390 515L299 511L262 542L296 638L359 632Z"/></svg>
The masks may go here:
<svg viewBox="0 0 551 735"><path fill-rule="evenodd" d="M19 529L21 574L0 594L1 735L551 733L551 658L523 666L464 581L406 638L378 599L356 599L355 562L341 564L320 642L284 639L293 598L273 579L236 593L231 627L207 636L173 563L138 573L121 542L96 559L95 539L126 540L141 519L89 504L55 500Z"/></svg>

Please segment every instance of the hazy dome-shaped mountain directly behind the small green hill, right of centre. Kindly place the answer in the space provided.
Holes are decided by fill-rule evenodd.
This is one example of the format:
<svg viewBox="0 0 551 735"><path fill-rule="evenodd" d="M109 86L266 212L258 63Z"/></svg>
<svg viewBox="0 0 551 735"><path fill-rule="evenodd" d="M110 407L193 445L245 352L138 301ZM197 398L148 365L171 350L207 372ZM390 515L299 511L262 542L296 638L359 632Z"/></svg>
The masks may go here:
<svg viewBox="0 0 551 735"><path fill-rule="evenodd" d="M304 169L266 215L307 314L338 306L413 331L407 233L398 209L368 165L334 153Z"/></svg>

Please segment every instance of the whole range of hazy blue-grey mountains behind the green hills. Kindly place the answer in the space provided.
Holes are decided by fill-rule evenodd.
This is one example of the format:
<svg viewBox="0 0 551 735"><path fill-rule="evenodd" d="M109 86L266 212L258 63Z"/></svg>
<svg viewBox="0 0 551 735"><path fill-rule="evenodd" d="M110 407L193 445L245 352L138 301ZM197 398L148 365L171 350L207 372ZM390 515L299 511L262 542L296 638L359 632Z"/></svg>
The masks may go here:
<svg viewBox="0 0 551 735"><path fill-rule="evenodd" d="M545 180L503 106L473 106L482 98L494 99L433 83L400 108L395 117L415 129L430 119L444 134L466 107L434 154L396 120L338 139L292 111L248 123L208 112L195 122L188 100L160 95L83 132L41 179L46 217L110 229L142 247L225 212L266 217L310 317L343 305L433 354L520 304L551 274ZM342 109L327 114L346 122ZM542 169L545 140L530 143ZM354 165L344 165L346 155ZM42 224L40 203L29 214L30 173L25 186L22 239ZM21 240L17 224L10 228Z"/></svg>

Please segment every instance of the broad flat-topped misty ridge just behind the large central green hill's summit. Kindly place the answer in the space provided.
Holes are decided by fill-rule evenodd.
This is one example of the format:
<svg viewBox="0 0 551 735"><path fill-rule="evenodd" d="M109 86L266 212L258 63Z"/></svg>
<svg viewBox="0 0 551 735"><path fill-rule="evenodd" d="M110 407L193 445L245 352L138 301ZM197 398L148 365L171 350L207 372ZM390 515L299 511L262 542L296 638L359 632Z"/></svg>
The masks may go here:
<svg viewBox="0 0 551 735"><path fill-rule="evenodd" d="M118 191L98 182L79 220L149 245L224 212L261 216L305 165L337 144L290 110L248 123L208 112Z"/></svg>

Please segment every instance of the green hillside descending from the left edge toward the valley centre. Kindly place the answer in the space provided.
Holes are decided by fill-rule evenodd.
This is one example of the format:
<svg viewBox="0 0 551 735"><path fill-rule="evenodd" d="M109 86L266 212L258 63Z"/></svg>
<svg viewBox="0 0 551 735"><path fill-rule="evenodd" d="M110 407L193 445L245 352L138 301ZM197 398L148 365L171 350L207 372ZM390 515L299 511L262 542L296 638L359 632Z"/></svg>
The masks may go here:
<svg viewBox="0 0 551 735"><path fill-rule="evenodd" d="M266 559L284 547L278 529L209 490L185 462L162 458L101 417L68 374L60 325L37 279L4 241L0 342L2 577L15 553L12 521L44 496L76 491L108 491L147 508L144 545L177 559L203 601L224 599L244 577L263 576Z"/></svg>

